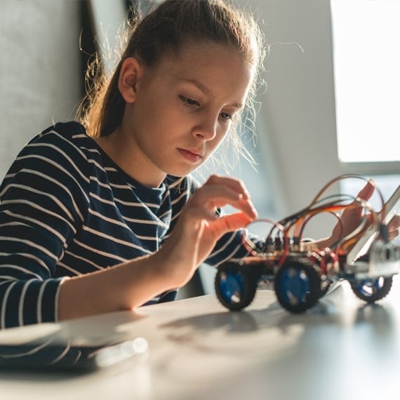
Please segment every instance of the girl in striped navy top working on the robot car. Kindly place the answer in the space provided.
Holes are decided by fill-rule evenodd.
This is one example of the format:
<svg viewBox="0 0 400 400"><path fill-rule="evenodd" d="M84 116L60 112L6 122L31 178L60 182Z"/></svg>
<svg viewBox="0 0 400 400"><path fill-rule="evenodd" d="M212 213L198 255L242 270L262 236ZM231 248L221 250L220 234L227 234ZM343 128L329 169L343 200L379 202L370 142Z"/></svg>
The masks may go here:
<svg viewBox="0 0 400 400"><path fill-rule="evenodd" d="M196 187L190 173L233 137L260 38L222 1L166 0L80 121L22 149L0 188L1 328L173 300L201 262L247 254L240 229L257 213L244 184ZM237 213L220 216L225 205Z"/></svg>

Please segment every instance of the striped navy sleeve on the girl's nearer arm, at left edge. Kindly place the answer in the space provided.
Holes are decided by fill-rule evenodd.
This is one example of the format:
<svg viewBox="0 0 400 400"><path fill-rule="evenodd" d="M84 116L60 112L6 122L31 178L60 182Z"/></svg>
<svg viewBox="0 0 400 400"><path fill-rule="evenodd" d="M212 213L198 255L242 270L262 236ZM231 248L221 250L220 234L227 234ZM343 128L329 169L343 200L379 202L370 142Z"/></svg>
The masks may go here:
<svg viewBox="0 0 400 400"><path fill-rule="evenodd" d="M55 267L88 208L84 154L58 133L44 136L22 149L0 187L1 328L57 319Z"/></svg>

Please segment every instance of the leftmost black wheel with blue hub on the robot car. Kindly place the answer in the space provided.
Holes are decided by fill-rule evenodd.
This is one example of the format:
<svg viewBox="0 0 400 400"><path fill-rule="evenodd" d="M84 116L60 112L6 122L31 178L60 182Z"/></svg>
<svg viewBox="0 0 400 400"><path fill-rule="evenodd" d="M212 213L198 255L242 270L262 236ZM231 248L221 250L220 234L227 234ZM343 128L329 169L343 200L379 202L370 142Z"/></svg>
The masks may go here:
<svg viewBox="0 0 400 400"><path fill-rule="evenodd" d="M232 311L240 311L253 301L258 277L249 267L228 262L218 267L214 283L215 293L222 305Z"/></svg>

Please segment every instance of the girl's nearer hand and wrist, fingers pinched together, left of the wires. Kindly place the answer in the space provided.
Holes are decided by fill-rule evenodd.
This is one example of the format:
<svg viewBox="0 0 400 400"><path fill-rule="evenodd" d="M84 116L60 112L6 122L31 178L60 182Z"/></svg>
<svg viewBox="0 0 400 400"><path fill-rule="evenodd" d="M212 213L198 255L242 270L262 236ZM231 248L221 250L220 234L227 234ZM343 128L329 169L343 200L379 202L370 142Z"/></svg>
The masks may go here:
<svg viewBox="0 0 400 400"><path fill-rule="evenodd" d="M233 206L237 213L218 216L217 208ZM157 253L161 273L171 288L189 281L224 234L246 227L257 213L243 182L212 175L196 190L180 214L168 241Z"/></svg>

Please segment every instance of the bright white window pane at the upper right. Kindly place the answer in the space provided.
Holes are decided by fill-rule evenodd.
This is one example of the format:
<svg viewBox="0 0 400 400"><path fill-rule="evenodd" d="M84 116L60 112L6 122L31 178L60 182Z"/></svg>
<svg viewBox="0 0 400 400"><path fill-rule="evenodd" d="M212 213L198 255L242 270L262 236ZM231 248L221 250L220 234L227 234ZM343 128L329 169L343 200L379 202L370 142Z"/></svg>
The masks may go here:
<svg viewBox="0 0 400 400"><path fill-rule="evenodd" d="M400 0L331 0L342 162L400 161Z"/></svg>

